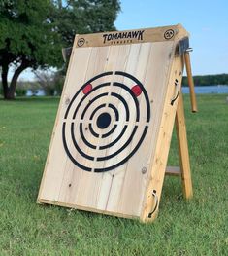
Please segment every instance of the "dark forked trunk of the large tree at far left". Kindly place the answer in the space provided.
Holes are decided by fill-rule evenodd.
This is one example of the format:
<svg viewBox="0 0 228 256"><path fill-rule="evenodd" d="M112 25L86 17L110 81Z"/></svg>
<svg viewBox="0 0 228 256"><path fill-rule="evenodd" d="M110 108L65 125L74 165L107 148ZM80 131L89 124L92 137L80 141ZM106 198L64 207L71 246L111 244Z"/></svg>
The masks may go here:
<svg viewBox="0 0 228 256"><path fill-rule="evenodd" d="M12 99L15 99L15 91L16 91L16 82L17 82L17 79L20 75L20 73L26 69L28 66L26 64L24 64L23 62L21 63L21 65L16 69L15 71L15 74L12 78L12 81L11 81L11 84L10 84L10 87L8 87L8 82L7 82L7 75L6 77L4 77L5 79L5 85L4 83L2 82L3 84L3 91L4 91L4 98L7 99L7 100L12 100ZM7 71L8 73L8 71ZM2 72L2 78L3 78L3 74L4 72ZM2 79L3 80L3 79Z"/></svg>

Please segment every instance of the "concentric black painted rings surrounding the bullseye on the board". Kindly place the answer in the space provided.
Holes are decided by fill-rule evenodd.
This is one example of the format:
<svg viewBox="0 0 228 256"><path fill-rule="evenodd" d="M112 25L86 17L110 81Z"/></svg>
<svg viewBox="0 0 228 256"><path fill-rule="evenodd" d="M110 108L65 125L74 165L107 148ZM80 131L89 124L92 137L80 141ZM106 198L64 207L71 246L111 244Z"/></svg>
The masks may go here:
<svg viewBox="0 0 228 256"><path fill-rule="evenodd" d="M67 110L66 110L66 113L64 115L64 119L65 121L63 122L63 127L62 127L62 140L63 140L63 146L64 146L64 149L66 151L66 154L68 155L68 157L70 158L70 160L77 166L79 166L81 169L83 170L86 170L86 171L91 171L92 168L94 169L95 172L103 172L103 171L109 171L109 170L112 170L120 165L123 165L125 162L127 162L135 153L136 151L139 149L139 147L141 146L146 134L147 134L147 128L148 128L148 125L145 125L145 128L143 129L143 133L142 135L140 136L140 139L139 141L136 143L136 145L134 146L134 148L130 151L130 153L122 160L120 160L118 163L114 164L114 165L108 165L107 167L96 167L94 166L95 163L92 163L91 166L85 166L85 165L81 165L81 163L75 158L73 157L72 153L70 152L69 148L68 148L68 145L67 145L67 140L66 140L66 126L68 124L67 122L67 119L69 117L69 112L70 112L70 109L73 107L73 104L74 102L77 102L76 99L77 97L80 95L81 91L83 90L83 88L92 83L93 81L99 79L99 78L102 78L102 77L109 77L110 75L117 75L117 76L123 76L123 77L127 77L129 78L131 81L133 81L135 84L139 85L141 90L142 90L142 94L146 100L146 106L147 106L147 124L148 122L150 121L150 104L149 104L149 99L148 99L148 95L147 95L147 91L146 89L144 88L143 84L138 80L136 79L135 77L133 77L132 75L128 74L128 73L125 73L125 72L121 72L121 71L116 71L115 73L113 72L106 72L106 73L102 73L100 75L97 75L96 77L88 80L82 87L79 91L76 92L76 94L74 95L74 97L72 98ZM136 132L138 132L137 130L138 129L138 126L139 125L136 125L131 134L129 134L130 136L126 139L125 143L120 147L118 148L116 151L114 151L114 153L110 154L110 155L107 155L107 156L101 156L101 157L97 157L96 159L93 157L93 156L89 156L87 155L86 153L84 153L80 146L78 145L77 143L77 139L75 137L75 119L77 118L77 113L81 107L81 104L82 102L87 98L88 95L92 96L92 93L94 91L97 91L99 89L103 89L105 87L109 87L109 89L112 89L112 86L114 87L118 87L120 88L121 90L124 90L124 91L127 91L128 94L131 96L131 98L133 99L134 103L135 103L135 111L136 111L136 122L140 122L140 118L141 118L141 113L140 113L140 105L139 105L139 101L138 101L138 98L137 96L133 93L133 91L131 91L131 89L129 87L127 87L126 85L122 84L122 83L119 83L119 82L113 82L113 84L111 84L111 82L107 82L107 83L102 83L98 86L96 86L95 88L93 88L91 91L88 91L85 95L82 96L81 100L79 101L79 103L77 104L75 110L73 110L73 116L72 116L72 119L73 119L73 122L71 123L71 127L70 127L70 133L71 133L71 140L73 141L73 144L74 144L74 148L77 150L77 152L79 152L81 158L85 158L89 161L97 161L98 163L99 162L103 162L103 161L109 161L110 159L113 159L114 157L116 157L118 154L120 154L122 151L124 151L129 145L130 143L133 141L133 138L136 134ZM108 96L108 92L104 92L104 93L101 93L101 94L98 94L96 95L95 97L93 97L89 103L86 105L86 107L84 107L83 111L82 111L82 114L81 114L81 121L84 119L85 117L85 114L86 114L86 111L88 110L88 108L90 106L93 105L93 103L99 99L99 98L102 98L102 97L107 97ZM129 107L128 107L128 104L127 104L127 101L123 98L122 95L120 94L117 94L115 92L111 92L110 93L111 96L117 98L123 105L124 105L124 108L125 108L125 112L126 112L126 116L125 116L125 121L128 122L130 121L130 110L129 110ZM108 103L107 103L108 104ZM93 112L91 113L90 115L90 118L89 120L92 120L96 111L98 109L101 109L103 107L106 106L106 103L104 104L101 104L99 105L98 107L96 107L95 110L93 110ZM115 121L114 122L118 122L119 121L119 112L118 112L118 109L115 107L114 104L112 103L109 103L108 104L108 107L111 108L113 111L114 111L114 116L115 116ZM71 112L72 113L72 112ZM72 120L71 119L71 120ZM114 122L112 122L114 124ZM117 123L118 124L118 123ZM113 128L111 128L110 131L108 131L107 133L104 133L104 134L98 134L92 127L92 124L89 123L88 124L88 132L91 133L93 136L95 136L96 138L98 138L99 140L101 139L105 139L107 138L108 136L110 136L111 134L114 133L114 130L115 128L117 128L117 124L114 124ZM110 123L108 123L108 125L110 125ZM111 148L114 146L114 144L116 144L120 139L122 139L122 136L124 135L125 131L127 130L128 128L128 124L126 123L122 130L119 132L119 134L114 138L113 141L109 141L109 143L105 144L105 145L94 145L92 143L90 143L90 141L88 141L83 133L83 128L82 128L82 123L79 124L79 126L77 126L80 130L80 136L81 136L81 140L82 142L89 148L93 149L93 150L105 150L105 149L108 149L108 148ZM86 128L85 128L86 129ZM98 140L98 141L99 141ZM75 154L74 154L75 155ZM78 155L78 154L77 154ZM78 155L79 156L79 155ZM94 166L94 167L93 167Z"/></svg>

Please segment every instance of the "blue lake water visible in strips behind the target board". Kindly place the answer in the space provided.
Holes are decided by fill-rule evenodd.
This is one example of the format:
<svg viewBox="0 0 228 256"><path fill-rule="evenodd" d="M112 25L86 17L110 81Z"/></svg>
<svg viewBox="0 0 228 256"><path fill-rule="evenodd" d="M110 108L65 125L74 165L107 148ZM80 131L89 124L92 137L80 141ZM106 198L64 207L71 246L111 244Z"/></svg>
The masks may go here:
<svg viewBox="0 0 228 256"><path fill-rule="evenodd" d="M189 87L182 87L182 92L184 94L189 93ZM228 86L208 86L208 87L195 87L195 92L197 94L222 94L222 93L228 93ZM42 89L36 90L36 93L34 93L31 90L27 91L27 96L45 96L45 91Z"/></svg>

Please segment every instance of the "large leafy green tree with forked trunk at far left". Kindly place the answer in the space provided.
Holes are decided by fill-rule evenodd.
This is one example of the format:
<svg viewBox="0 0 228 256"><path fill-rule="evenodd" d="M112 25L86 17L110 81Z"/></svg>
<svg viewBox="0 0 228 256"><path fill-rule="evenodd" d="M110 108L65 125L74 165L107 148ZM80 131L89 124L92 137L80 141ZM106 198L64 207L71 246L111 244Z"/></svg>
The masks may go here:
<svg viewBox="0 0 228 256"><path fill-rule="evenodd" d="M61 40L50 22L49 0L0 1L0 67L4 97L13 99L20 73L28 67L61 63ZM14 75L8 83L10 67Z"/></svg>

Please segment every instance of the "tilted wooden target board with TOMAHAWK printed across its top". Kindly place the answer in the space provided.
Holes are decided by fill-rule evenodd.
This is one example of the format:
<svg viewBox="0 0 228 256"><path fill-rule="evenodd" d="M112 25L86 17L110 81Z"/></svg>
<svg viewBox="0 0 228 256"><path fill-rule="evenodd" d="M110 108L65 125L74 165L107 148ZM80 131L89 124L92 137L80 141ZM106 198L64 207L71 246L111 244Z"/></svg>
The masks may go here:
<svg viewBox="0 0 228 256"><path fill-rule="evenodd" d="M156 213L187 36L181 25L76 36L39 202L142 221Z"/></svg>

